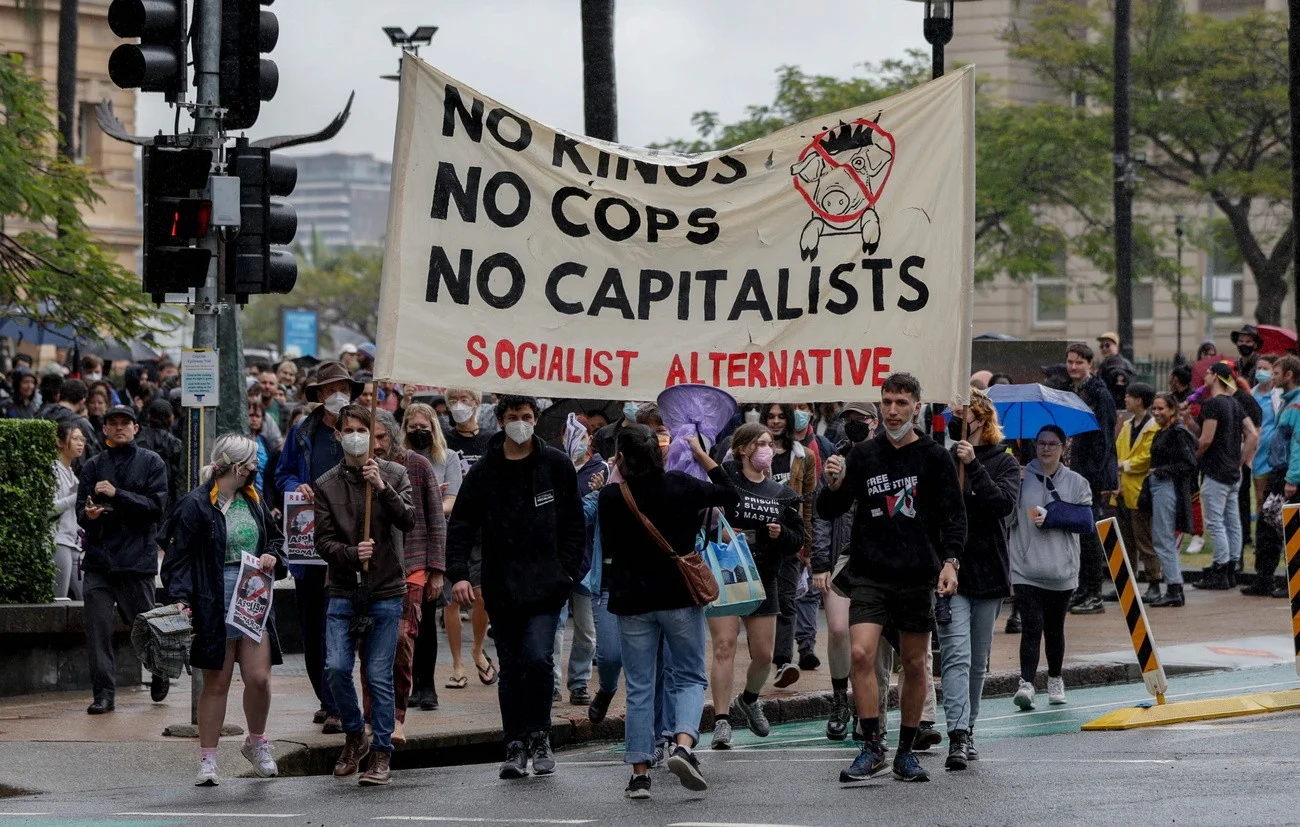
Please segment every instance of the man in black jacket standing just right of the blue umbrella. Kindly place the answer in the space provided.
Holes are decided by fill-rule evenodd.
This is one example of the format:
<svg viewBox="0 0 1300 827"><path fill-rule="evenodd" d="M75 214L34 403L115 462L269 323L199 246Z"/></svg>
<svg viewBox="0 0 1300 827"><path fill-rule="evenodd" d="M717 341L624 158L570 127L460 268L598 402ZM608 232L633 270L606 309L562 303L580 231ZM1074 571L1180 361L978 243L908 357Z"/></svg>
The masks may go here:
<svg viewBox="0 0 1300 827"><path fill-rule="evenodd" d="M1074 393L1092 408L1101 430L1080 433L1070 440L1070 469L1092 488L1092 510L1100 516L1102 501L1119 490L1119 468L1115 464L1115 399L1106 384L1092 374L1092 348L1075 342L1066 350L1065 369L1074 382ZM1106 554L1096 533L1079 537L1079 590L1074 593L1070 611L1076 615L1100 615L1101 583L1106 579Z"/></svg>

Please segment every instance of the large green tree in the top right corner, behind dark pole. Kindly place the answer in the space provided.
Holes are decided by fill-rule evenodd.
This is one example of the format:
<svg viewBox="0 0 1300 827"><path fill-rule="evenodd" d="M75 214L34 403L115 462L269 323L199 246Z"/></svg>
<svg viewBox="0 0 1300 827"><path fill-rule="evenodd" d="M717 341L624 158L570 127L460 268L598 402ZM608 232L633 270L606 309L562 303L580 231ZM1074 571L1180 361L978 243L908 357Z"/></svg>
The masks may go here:
<svg viewBox="0 0 1300 827"><path fill-rule="evenodd" d="M1278 324L1295 246L1286 18L1186 14L1174 0L1136 0L1132 31L1135 150L1147 144L1139 198L1213 203L1258 287L1256 320ZM1088 101L1080 120L1109 129L1104 1L1044 0L1005 38L1062 99Z"/></svg>

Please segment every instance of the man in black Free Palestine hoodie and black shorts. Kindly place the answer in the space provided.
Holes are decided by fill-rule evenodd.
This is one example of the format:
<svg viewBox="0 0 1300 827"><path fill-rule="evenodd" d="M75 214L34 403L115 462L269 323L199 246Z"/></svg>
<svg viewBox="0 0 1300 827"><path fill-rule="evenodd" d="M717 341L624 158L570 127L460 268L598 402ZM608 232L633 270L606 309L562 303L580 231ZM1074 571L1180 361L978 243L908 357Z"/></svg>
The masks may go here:
<svg viewBox="0 0 1300 827"><path fill-rule="evenodd" d="M816 512L826 520L857 503L849 564L835 581L850 599L853 698L863 737L862 752L840 774L845 784L864 781L885 768L875 668L885 625L898 632L904 663L902 726L893 772L905 781L930 780L913 754L913 742L928 687L926 653L935 623L935 592L957 592L966 542L957 467L941 445L914 425L920 382L894 373L881 385L880 398L884 438L859 442L848 459L829 458L826 486L816 499Z"/></svg>

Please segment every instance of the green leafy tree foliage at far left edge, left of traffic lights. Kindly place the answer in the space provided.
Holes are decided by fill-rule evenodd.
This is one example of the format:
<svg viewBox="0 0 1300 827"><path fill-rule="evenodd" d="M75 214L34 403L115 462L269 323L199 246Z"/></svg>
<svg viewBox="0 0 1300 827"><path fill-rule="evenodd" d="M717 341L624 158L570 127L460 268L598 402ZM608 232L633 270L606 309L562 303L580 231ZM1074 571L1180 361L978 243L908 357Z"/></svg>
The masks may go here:
<svg viewBox="0 0 1300 827"><path fill-rule="evenodd" d="M92 173L55 152L58 129L40 79L0 57L0 316L131 338L162 321L139 281L99 247L82 212L100 202ZM57 230L57 231L56 231Z"/></svg>

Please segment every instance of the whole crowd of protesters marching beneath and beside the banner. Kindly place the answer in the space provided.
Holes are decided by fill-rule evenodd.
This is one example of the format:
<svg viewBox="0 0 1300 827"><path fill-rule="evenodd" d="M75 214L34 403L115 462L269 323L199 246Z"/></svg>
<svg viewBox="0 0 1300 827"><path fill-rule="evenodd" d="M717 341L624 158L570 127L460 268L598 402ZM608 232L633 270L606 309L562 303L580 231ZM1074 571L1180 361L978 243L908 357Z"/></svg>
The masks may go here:
<svg viewBox="0 0 1300 827"><path fill-rule="evenodd" d="M95 356L66 376L38 376L20 361L0 414L57 424L55 590L86 602L91 714L114 709L114 615L129 623L155 606L162 554L166 594L192 618L191 663L204 670L198 784L218 781L216 739L234 663L250 732L243 753L257 775L277 774L265 737L280 662L274 620L255 644L224 619L233 576L251 554L268 575L292 573L320 702L313 720L344 736L337 778L390 781L407 710L439 705L439 624L451 650L443 688L468 685L468 620L477 679L498 685L500 776L552 772L551 707L562 687L598 723L621 674L625 792L645 798L655 766L689 789L707 788L694 755L702 737L728 749L734 728L770 732L760 694L768 681L788 688L820 668L823 607L833 696L826 735L861 742L840 780L890 766L884 707L894 657L901 726L892 770L928 779L915 753L942 741L932 632L945 766L967 768L979 758L974 731L1000 614L1022 636L1014 705L1037 702L1040 648L1048 701L1066 702L1066 615L1100 614L1114 599L1093 528L1106 515L1118 518L1153 607L1186 605L1180 551L1205 541L1214 554L1199 588L1240 580L1244 594L1283 597L1274 572L1280 506L1300 486L1300 359L1260 354L1249 326L1232 341L1240 359L1219 359L1206 343L1197 361L1174 368L1167 393L1139 381L1115 334L1098 337L1098 352L1071 343L1041 381L1093 412L1098 428L1078 434L1049 425L1008 440L987 389L1011 377L988 371L971 377L946 433L931 433L923 389L904 373L872 400L742 403L712 445L689 440L698 476L664 469L673 434L654 402L571 411L546 441L538 425L551 400L376 384L372 345L325 363L251 364L248 432L216 442L192 490L177 371L165 359L130 365L117 384ZM315 503L325 566L286 566L281 512L290 493ZM696 550L711 512L745 538L764 589L744 618L706 619L675 559ZM1247 577L1252 524L1257 576ZM569 616L566 674L560 632ZM749 667L737 688L741 629ZM499 663L488 654L489 633ZM155 701L166 689L165 677L152 680ZM710 693L714 729L702 736Z"/></svg>

